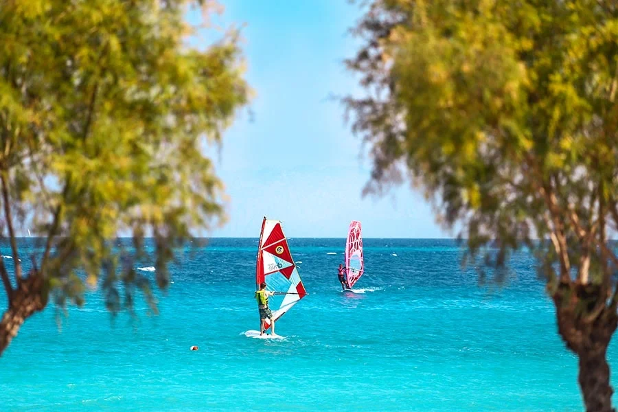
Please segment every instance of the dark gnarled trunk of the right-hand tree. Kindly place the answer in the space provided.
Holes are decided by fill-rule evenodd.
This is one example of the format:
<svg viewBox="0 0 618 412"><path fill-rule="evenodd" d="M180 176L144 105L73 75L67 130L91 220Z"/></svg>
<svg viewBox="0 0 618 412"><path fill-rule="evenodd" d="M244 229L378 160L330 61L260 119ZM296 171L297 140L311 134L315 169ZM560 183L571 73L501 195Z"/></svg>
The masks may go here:
<svg viewBox="0 0 618 412"><path fill-rule="evenodd" d="M615 304L601 286L562 283L553 295L558 332L579 358L586 412L615 412L607 348L618 325Z"/></svg>

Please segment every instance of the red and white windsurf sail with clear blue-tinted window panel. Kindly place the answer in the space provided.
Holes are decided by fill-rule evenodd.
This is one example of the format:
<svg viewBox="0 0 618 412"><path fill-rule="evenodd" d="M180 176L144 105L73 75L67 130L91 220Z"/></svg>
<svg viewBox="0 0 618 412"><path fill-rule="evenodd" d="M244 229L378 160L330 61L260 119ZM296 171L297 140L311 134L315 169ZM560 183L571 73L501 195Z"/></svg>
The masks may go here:
<svg viewBox="0 0 618 412"><path fill-rule="evenodd" d="M262 221L255 282L258 290L260 284L266 282L267 290L285 293L268 299L274 321L307 295L279 220L264 218ZM267 320L266 324L267 328L271 327L270 321Z"/></svg>

